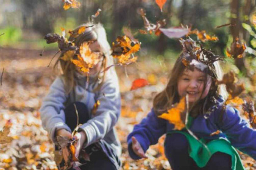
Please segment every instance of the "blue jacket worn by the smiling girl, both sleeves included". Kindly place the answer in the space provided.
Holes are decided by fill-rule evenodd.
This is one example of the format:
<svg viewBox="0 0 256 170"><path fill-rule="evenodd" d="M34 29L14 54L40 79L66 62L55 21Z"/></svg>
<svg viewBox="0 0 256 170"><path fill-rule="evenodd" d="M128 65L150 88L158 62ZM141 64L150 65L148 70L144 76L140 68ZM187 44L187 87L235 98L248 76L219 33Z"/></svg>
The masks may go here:
<svg viewBox="0 0 256 170"><path fill-rule="evenodd" d="M226 107L222 121L219 121L221 112L219 108L221 106L222 104L219 103L217 109L213 110L207 119L202 114L194 118L190 130L198 138L204 138L207 141L215 140L219 137L227 138L232 146L256 160L256 131L250 127L246 120L240 117L238 110L231 106ZM158 118L152 109L140 124L134 126L133 131L127 137L130 157L140 159L132 151L132 136L137 138L144 152L146 152L150 145L158 142L158 138L166 134L166 132L173 131L173 129L174 124L163 118ZM210 136L217 130L220 130L221 133Z"/></svg>

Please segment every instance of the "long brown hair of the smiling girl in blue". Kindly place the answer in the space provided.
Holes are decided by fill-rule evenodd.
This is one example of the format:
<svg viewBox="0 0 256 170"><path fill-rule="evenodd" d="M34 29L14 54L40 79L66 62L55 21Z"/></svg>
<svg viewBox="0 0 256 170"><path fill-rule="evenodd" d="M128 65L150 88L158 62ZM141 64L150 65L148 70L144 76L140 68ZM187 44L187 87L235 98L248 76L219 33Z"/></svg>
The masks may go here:
<svg viewBox="0 0 256 170"><path fill-rule="evenodd" d="M161 115L166 112L172 106L172 104L179 102L180 97L177 90L177 83L184 70L187 69L187 67L182 63L182 60L186 57L187 55L181 53L181 55L177 58L176 63L169 74L169 80L165 89L155 96L153 100L153 109L155 114ZM204 70L205 80L207 80L208 75L212 76L212 86L204 99L198 100L193 104L192 107L190 107L190 114L193 116L199 113L205 114L205 112L215 104L215 101L219 98L219 95L222 95L224 98L227 97L226 88L222 85L217 85L214 81L222 79L222 70L219 66L219 62L216 61L214 66L214 70L209 68ZM203 92L205 90L205 85L206 81L204 82L204 88L202 90Z"/></svg>

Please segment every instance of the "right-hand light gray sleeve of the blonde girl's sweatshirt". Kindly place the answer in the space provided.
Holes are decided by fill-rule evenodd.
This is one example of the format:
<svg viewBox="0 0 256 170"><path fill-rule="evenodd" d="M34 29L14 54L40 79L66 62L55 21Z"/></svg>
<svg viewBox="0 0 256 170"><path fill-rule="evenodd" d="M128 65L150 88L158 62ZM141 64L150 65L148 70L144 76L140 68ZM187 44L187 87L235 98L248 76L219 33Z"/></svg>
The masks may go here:
<svg viewBox="0 0 256 170"><path fill-rule="evenodd" d="M99 100L100 104L95 116L79 127L79 131L84 131L87 135L84 147L104 138L118 121L121 97L116 74L105 80L98 94L96 100Z"/></svg>

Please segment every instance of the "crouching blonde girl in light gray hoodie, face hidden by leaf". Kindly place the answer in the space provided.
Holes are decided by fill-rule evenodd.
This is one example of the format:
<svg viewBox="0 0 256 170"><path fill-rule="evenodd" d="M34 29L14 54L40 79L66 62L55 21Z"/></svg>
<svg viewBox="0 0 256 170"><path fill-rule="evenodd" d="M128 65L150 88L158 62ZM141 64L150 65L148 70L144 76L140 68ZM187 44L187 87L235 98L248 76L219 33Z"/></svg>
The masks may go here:
<svg viewBox="0 0 256 170"><path fill-rule="evenodd" d="M100 53L99 62L88 74L71 61L58 60L62 74L52 83L41 105L42 125L56 144L55 149L60 149L57 147L57 135L72 138L71 132L77 124L82 124L74 137L77 140L76 157L79 163L73 164L73 168L119 169L121 144L114 126L119 118L121 98L115 68L105 71L113 64L105 29L101 24L93 25L76 38L71 36L69 41L77 47L90 42L90 50ZM98 109L93 109L97 101L100 103ZM81 154L82 151L86 154ZM62 155L67 161L68 150L62 149ZM87 158L83 158L83 155L87 155Z"/></svg>

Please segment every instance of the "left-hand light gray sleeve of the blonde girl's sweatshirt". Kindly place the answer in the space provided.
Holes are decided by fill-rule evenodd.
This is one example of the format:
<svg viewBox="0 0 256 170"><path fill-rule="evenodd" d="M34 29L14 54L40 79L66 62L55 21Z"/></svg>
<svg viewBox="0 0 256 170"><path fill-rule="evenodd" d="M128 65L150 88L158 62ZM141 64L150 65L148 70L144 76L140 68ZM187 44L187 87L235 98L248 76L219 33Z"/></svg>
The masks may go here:
<svg viewBox="0 0 256 170"><path fill-rule="evenodd" d="M71 129L65 124L65 113L63 110L65 101L64 83L60 77L57 77L40 107L43 128L48 132L53 142L55 142L55 131L66 129L71 132Z"/></svg>

